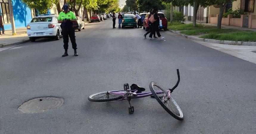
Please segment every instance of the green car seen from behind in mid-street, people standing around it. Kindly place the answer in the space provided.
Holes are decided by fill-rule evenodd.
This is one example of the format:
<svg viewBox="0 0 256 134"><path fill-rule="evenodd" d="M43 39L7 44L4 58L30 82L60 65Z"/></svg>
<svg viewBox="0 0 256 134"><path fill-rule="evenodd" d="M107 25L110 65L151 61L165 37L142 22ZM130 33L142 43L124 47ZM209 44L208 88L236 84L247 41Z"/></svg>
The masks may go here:
<svg viewBox="0 0 256 134"><path fill-rule="evenodd" d="M137 19L134 19L135 15L133 14L125 14L122 20L122 28L125 26L133 26L137 28Z"/></svg>

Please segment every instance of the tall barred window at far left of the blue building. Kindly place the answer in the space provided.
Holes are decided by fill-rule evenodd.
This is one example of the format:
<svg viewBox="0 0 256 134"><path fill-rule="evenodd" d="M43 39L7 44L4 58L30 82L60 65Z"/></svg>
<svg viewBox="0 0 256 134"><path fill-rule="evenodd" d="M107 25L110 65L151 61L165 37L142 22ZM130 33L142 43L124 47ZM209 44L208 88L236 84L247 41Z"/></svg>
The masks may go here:
<svg viewBox="0 0 256 134"><path fill-rule="evenodd" d="M11 23L8 0L0 0L1 15L4 24Z"/></svg>

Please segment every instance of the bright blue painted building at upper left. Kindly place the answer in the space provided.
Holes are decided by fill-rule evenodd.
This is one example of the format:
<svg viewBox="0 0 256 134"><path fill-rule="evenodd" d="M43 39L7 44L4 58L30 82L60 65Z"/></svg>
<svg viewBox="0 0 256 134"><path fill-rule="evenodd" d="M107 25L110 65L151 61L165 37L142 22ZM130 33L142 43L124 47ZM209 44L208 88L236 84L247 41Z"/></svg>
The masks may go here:
<svg viewBox="0 0 256 134"><path fill-rule="evenodd" d="M13 15L15 21L15 28L23 28L32 20L36 12L34 9L29 9L26 4L21 0L12 0L13 4ZM0 0L0 13L4 21L4 29L12 29L10 22L10 11L8 0Z"/></svg>

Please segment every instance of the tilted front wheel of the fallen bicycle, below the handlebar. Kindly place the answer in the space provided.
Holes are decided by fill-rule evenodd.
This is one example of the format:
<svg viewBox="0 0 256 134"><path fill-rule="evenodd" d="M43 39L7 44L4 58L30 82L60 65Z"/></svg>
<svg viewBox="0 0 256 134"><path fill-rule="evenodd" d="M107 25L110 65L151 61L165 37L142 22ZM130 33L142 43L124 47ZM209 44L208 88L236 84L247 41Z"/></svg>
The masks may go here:
<svg viewBox="0 0 256 134"><path fill-rule="evenodd" d="M156 82L151 82L149 84L150 91L153 93L154 97L160 103L160 105L169 113L172 117L177 120L182 120L184 115L179 108L179 105L176 101L171 97L168 98L168 91L164 90L160 85ZM166 97L166 101L163 101L163 97Z"/></svg>

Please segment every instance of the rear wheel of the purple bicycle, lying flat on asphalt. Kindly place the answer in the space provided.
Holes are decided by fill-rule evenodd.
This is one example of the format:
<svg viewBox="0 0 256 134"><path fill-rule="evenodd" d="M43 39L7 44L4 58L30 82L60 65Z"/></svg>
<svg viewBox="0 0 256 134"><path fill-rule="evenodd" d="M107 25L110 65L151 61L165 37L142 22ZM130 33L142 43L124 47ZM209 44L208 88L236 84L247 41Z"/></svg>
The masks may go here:
<svg viewBox="0 0 256 134"><path fill-rule="evenodd" d="M107 101L119 100L122 98L121 96L115 96L115 95L110 95L110 98L105 98L106 96L104 96L104 94L106 95L107 92L114 92L114 91L105 91L105 92L98 92L98 93L92 94L88 96L88 100L93 102L107 102ZM102 97L104 96L104 98L102 98L100 95L102 95Z"/></svg>

